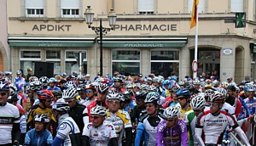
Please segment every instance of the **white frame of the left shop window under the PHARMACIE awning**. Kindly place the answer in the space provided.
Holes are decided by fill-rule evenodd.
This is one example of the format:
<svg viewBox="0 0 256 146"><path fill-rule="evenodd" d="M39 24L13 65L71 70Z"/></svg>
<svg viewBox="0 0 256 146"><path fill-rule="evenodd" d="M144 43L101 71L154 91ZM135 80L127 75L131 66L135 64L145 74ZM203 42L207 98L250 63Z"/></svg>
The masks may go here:
<svg viewBox="0 0 256 146"><path fill-rule="evenodd" d="M113 51L139 51L140 52L140 59L139 60L120 60L120 59L113 59ZM141 72L141 60L142 60L142 50L137 48L115 48L111 50L111 72L113 72L113 63L115 62L136 62L139 63L139 72Z"/></svg>

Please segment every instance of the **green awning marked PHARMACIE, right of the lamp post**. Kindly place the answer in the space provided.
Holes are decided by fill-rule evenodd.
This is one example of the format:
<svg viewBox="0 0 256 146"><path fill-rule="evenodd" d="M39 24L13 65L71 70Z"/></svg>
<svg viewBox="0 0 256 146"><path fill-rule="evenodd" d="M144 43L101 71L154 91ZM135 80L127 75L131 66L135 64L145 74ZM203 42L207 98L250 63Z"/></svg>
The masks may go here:
<svg viewBox="0 0 256 146"><path fill-rule="evenodd" d="M101 42L100 39L97 39ZM188 38L103 38L103 48L182 48Z"/></svg>

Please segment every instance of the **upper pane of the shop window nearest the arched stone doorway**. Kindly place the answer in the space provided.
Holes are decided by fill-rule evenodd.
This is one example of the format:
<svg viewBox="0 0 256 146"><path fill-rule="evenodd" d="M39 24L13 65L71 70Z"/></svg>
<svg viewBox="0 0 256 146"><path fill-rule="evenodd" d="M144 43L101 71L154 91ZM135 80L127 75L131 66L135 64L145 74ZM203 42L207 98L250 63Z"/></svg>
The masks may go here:
<svg viewBox="0 0 256 146"><path fill-rule="evenodd" d="M178 51L152 51L151 60L178 60Z"/></svg>

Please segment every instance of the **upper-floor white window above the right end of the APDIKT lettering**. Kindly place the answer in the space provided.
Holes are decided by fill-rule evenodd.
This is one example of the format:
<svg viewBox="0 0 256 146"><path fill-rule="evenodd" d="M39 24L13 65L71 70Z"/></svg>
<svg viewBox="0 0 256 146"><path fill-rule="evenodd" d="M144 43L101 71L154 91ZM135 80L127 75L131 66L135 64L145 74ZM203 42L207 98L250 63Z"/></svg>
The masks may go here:
<svg viewBox="0 0 256 146"><path fill-rule="evenodd" d="M61 17L79 18L79 0L61 0Z"/></svg>

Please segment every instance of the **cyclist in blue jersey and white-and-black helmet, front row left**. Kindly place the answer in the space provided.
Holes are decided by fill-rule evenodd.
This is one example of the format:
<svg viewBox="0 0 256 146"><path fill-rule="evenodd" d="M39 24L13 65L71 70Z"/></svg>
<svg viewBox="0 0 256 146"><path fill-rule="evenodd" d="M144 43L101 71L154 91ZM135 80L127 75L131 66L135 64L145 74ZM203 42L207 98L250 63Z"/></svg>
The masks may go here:
<svg viewBox="0 0 256 146"><path fill-rule="evenodd" d="M46 129L49 124L49 119L43 114L38 114L34 117L35 128L26 132L24 145L38 146L51 145L53 138L51 133Z"/></svg>

